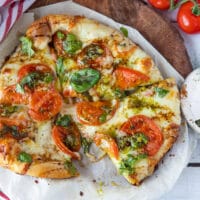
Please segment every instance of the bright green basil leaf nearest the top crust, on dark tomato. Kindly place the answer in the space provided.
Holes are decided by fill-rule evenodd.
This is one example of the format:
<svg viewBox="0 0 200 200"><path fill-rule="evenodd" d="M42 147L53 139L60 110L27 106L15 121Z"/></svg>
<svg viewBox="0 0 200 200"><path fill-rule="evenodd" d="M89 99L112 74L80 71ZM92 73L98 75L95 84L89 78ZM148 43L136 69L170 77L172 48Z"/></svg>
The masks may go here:
<svg viewBox="0 0 200 200"><path fill-rule="evenodd" d="M82 48L82 42L74 34L68 33L63 48L67 53L74 54Z"/></svg>

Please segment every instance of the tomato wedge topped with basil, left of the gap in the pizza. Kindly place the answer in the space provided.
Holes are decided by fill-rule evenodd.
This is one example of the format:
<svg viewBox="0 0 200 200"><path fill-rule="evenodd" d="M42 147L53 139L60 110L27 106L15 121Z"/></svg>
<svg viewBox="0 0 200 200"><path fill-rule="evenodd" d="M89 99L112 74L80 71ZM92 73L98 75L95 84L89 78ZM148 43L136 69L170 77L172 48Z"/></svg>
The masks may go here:
<svg viewBox="0 0 200 200"><path fill-rule="evenodd" d="M69 116L59 116L52 129L52 138L56 146L74 159L80 159L77 153L81 147L80 133Z"/></svg>

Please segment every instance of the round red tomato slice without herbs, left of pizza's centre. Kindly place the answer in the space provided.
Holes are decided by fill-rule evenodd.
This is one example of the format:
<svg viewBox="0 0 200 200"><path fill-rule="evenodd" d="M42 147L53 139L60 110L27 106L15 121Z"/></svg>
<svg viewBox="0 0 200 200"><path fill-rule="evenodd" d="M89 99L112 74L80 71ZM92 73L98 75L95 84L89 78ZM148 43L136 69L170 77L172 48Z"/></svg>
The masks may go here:
<svg viewBox="0 0 200 200"><path fill-rule="evenodd" d="M45 121L60 112L62 97L54 90L35 91L30 97L29 115L37 121Z"/></svg>

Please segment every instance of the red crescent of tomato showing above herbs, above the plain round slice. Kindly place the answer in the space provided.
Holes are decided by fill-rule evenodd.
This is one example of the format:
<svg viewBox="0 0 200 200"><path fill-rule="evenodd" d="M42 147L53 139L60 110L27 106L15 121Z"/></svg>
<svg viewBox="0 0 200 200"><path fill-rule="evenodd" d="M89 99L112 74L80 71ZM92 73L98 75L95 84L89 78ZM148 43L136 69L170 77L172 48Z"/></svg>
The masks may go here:
<svg viewBox="0 0 200 200"><path fill-rule="evenodd" d="M53 71L50 67L47 65L41 64L41 63L32 63L32 64L27 64L24 65L20 68L18 71L18 82L22 80L25 76L32 72L38 72L38 73L51 73L53 74Z"/></svg>

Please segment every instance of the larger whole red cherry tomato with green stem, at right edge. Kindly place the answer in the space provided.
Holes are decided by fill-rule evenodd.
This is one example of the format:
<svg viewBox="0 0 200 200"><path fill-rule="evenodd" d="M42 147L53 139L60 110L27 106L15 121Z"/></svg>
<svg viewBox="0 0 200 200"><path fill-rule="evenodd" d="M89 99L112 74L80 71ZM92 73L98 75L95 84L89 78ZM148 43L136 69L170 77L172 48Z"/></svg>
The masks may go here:
<svg viewBox="0 0 200 200"><path fill-rule="evenodd" d="M200 0L197 2L200 4ZM193 7L194 3L191 1L184 3L181 5L177 15L179 27L186 33L190 34L200 32L200 15L197 16L192 12ZM200 14L200 9L198 12Z"/></svg>

